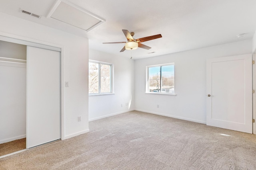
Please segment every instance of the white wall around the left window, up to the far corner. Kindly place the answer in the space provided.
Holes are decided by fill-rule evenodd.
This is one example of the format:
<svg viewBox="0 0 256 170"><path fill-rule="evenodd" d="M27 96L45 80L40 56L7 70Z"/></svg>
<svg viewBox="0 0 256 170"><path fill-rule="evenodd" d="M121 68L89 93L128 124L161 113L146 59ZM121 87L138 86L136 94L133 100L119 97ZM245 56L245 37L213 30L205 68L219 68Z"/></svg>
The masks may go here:
<svg viewBox="0 0 256 170"><path fill-rule="evenodd" d="M90 49L89 59L114 64L114 93L89 96L89 120L134 109L134 60ZM125 104L129 103L129 106ZM121 107L121 104L123 107Z"/></svg>

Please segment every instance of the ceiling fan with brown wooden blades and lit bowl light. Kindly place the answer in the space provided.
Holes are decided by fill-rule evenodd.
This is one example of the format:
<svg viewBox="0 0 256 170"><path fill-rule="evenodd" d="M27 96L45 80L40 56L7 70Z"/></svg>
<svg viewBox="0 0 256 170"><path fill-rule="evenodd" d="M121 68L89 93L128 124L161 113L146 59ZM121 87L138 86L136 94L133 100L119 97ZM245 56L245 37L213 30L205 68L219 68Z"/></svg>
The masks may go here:
<svg viewBox="0 0 256 170"><path fill-rule="evenodd" d="M145 42L145 41L149 41L149 40L152 40L152 39L157 39L157 38L161 38L162 35L161 34L158 34L158 35L152 35L152 36L149 36L149 37L143 37L143 38L138 38L138 39L134 39L133 36L134 36L134 33L130 33L128 30L126 29L122 29L126 39L127 39L127 42L113 42L113 43L103 43L103 44L118 44L118 43L126 43L125 46L121 49L120 52L123 52L124 50L135 50L137 49L138 47L142 48L142 49L151 49L151 47L148 47L144 44L142 44L142 42Z"/></svg>

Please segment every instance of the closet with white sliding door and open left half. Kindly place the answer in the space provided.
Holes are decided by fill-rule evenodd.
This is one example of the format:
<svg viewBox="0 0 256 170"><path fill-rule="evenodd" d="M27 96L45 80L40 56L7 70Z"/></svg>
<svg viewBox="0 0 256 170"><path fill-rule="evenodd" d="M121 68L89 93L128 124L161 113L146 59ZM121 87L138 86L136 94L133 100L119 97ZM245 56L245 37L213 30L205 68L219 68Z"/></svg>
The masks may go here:
<svg viewBox="0 0 256 170"><path fill-rule="evenodd" d="M0 36L0 145L59 140L60 103L60 49Z"/></svg>

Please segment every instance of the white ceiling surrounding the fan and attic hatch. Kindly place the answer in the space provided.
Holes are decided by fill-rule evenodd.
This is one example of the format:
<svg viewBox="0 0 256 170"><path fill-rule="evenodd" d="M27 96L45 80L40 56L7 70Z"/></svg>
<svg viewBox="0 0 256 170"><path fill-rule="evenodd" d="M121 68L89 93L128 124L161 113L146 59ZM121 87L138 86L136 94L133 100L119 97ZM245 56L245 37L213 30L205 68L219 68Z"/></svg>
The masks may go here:
<svg viewBox="0 0 256 170"><path fill-rule="evenodd" d="M88 37L89 47L98 51L142 59L190 49L252 39L256 29L256 0L69 0L104 18L106 22L88 33L53 18L46 18L55 0L0 0L0 12ZM42 18L19 12L27 10ZM162 38L142 44L150 50L119 51L126 41L122 29L134 38L162 34ZM236 35L246 33L245 37ZM155 51L156 53L147 54Z"/></svg>

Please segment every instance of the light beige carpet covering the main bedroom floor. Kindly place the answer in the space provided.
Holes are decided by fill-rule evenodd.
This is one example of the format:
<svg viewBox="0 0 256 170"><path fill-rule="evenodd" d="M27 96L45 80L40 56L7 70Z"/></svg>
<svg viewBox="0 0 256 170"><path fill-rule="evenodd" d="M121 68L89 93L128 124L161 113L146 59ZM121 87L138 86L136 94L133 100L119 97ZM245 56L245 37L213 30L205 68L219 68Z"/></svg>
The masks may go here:
<svg viewBox="0 0 256 170"><path fill-rule="evenodd" d="M89 133L2 158L0 169L256 169L256 135L139 111L89 125Z"/></svg>

